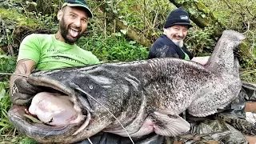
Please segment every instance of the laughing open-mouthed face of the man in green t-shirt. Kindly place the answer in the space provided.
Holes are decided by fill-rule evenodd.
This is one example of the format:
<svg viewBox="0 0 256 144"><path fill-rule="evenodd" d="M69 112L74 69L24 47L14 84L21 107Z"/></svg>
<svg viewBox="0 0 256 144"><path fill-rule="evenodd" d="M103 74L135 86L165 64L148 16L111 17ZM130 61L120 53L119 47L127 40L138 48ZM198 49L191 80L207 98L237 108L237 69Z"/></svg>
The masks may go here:
<svg viewBox="0 0 256 144"><path fill-rule="evenodd" d="M78 41L88 25L88 15L79 7L65 6L58 12L58 19L58 40L69 44Z"/></svg>

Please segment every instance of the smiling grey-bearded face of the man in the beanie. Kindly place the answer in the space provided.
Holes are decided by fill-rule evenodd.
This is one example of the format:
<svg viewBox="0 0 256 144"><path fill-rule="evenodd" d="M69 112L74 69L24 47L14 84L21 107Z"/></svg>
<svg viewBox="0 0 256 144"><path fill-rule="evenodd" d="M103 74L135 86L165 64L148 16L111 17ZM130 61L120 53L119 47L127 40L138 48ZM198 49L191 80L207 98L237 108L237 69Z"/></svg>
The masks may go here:
<svg viewBox="0 0 256 144"><path fill-rule="evenodd" d="M183 39L186 38L188 26L171 26L166 28L165 34L170 40L172 40L176 45L182 47Z"/></svg>

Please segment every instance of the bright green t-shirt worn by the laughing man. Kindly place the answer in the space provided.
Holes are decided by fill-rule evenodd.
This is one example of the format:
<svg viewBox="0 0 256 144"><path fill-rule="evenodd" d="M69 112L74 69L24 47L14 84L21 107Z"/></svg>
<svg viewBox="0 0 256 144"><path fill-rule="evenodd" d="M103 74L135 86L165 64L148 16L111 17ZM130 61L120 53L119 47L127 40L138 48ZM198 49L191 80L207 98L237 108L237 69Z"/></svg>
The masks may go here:
<svg viewBox="0 0 256 144"><path fill-rule="evenodd" d="M98 64L98 58L76 44L58 41L54 34L30 34L22 41L18 61L30 59L37 70L54 70L73 66Z"/></svg>

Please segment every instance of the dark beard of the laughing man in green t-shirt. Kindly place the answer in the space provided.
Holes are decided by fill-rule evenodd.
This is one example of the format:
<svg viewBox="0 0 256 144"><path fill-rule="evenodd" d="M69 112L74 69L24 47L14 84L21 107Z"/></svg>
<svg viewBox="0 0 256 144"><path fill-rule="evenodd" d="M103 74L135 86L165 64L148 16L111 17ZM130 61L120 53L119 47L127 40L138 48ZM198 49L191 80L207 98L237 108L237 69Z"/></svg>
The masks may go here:
<svg viewBox="0 0 256 144"><path fill-rule="evenodd" d="M74 42L77 42L78 39L82 36L82 34L78 34L78 36L76 38L68 38L68 33L69 33L69 30L70 30L70 25L67 26L65 24L65 20L64 20L63 17L62 17L62 20L59 23L59 29L60 29L60 32L62 34L62 38L64 38L66 43L72 44Z"/></svg>

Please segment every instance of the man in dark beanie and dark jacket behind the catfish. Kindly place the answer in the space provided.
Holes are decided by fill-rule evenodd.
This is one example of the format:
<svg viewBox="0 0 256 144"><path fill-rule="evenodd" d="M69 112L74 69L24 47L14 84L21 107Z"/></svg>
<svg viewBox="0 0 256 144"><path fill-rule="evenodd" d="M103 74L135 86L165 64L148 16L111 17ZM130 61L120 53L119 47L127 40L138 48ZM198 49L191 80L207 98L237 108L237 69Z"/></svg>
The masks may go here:
<svg viewBox="0 0 256 144"><path fill-rule="evenodd" d="M185 10L178 8L170 12L166 18L163 34L151 46L148 58L182 58L205 65L209 57L194 57L183 45L190 27L192 25L189 14Z"/></svg>

